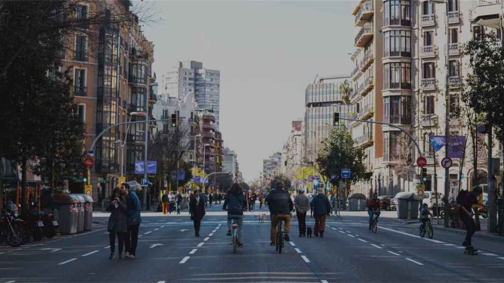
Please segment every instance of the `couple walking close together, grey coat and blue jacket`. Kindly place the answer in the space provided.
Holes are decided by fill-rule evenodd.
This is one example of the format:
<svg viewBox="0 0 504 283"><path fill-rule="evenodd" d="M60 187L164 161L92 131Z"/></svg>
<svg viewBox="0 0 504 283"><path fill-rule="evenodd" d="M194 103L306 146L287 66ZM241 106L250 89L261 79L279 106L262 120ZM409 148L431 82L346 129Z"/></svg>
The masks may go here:
<svg viewBox="0 0 504 283"><path fill-rule="evenodd" d="M125 247L125 257L135 258L138 243L138 230L142 217L140 216L140 199L130 185L124 184L113 191L113 199L107 207L110 211L108 218L108 232L110 237L110 257L115 257L115 238L117 237L119 259Z"/></svg>

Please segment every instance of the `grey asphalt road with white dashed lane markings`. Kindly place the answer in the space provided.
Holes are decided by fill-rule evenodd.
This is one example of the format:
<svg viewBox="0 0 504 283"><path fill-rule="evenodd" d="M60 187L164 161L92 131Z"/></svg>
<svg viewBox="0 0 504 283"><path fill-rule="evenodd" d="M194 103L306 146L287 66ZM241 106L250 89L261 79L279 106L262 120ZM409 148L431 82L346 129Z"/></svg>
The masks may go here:
<svg viewBox="0 0 504 283"><path fill-rule="evenodd" d="M299 238L294 220L278 254L269 246L269 218L258 221L263 209L247 213L245 246L233 254L218 211L207 209L199 238L186 213L144 214L136 259L108 259L106 217L95 217L91 232L1 246L0 283L504 281L504 241L475 238L479 255L464 255L463 235L434 230L432 240L421 239L417 225L385 216L374 234L365 213L342 213L327 221L324 238Z"/></svg>

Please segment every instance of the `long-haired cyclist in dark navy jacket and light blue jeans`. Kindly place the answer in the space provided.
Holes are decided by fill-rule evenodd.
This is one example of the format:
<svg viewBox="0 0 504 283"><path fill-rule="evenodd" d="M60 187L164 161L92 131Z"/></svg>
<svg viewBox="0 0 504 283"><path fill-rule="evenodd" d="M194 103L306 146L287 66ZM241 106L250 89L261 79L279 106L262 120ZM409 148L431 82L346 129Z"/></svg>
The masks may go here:
<svg viewBox="0 0 504 283"><path fill-rule="evenodd" d="M231 225L233 219L236 220L238 225L238 247L243 247L241 242L241 235L243 234L243 210L246 208L245 197L243 196L243 189L238 183L234 183L227 191L226 199L224 200L223 210L227 208L227 236L231 236Z"/></svg>

